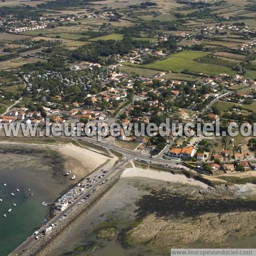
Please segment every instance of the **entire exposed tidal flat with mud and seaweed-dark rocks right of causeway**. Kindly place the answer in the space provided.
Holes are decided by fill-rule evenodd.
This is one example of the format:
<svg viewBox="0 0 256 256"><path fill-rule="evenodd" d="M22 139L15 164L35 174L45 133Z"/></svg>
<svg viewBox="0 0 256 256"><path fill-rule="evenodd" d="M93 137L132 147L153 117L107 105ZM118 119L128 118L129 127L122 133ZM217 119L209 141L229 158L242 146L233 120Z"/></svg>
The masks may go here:
<svg viewBox="0 0 256 256"><path fill-rule="evenodd" d="M169 255L170 248L254 248L255 201L230 196L222 200L220 188L214 195L215 188L203 190L190 184L121 178L44 254Z"/></svg>

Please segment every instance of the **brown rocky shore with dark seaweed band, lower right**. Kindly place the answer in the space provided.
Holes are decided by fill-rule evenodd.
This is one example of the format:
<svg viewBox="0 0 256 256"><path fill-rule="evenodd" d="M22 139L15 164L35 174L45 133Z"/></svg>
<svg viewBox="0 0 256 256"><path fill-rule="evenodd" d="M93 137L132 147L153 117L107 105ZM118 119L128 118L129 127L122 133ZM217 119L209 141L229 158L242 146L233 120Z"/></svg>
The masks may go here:
<svg viewBox="0 0 256 256"><path fill-rule="evenodd" d="M195 189L152 189L136 202L140 223L125 230L124 246L139 244L163 249L193 247L194 243L212 248L230 246L228 239L256 236L254 184L219 185Z"/></svg>

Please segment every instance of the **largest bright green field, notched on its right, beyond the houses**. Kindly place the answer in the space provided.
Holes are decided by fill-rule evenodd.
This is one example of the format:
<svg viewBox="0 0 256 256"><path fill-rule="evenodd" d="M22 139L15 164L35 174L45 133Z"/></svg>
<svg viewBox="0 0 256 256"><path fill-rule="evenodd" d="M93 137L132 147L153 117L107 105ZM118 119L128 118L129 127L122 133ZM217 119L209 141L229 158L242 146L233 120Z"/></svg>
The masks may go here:
<svg viewBox="0 0 256 256"><path fill-rule="evenodd" d="M181 73L182 71L188 71L193 73L203 73L207 75L219 75L221 73L233 75L236 73L230 68L212 65L212 64L206 64L206 63L198 63L197 61L194 60L196 58L200 58L207 54L208 52L183 51L183 52L176 53L172 57L169 57L167 59L150 63L145 67L149 69L156 69L156 70L163 70L163 71L170 70L176 73Z"/></svg>

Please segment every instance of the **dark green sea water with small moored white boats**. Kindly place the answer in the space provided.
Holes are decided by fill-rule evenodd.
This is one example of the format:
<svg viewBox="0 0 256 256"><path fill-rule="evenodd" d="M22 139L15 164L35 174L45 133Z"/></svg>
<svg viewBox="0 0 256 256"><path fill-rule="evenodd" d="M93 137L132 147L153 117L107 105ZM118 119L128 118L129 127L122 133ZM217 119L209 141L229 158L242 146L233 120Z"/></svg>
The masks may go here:
<svg viewBox="0 0 256 256"><path fill-rule="evenodd" d="M3 202L0 204L0 254L7 255L41 225L47 208L40 204L40 197L31 197L21 183L14 184L1 175L1 181L2 178L5 178L8 186L4 187L1 182L0 197ZM15 191L15 187L19 187L19 193ZM12 192L15 196L10 195ZM10 208L12 211L8 212ZM7 217L4 218L3 214Z"/></svg>

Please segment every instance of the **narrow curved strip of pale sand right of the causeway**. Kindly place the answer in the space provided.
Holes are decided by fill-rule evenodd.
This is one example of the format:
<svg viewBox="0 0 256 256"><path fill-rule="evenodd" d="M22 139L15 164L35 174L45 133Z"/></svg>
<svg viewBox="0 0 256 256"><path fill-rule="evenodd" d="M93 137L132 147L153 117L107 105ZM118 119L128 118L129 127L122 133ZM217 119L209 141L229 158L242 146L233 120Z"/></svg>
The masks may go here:
<svg viewBox="0 0 256 256"><path fill-rule="evenodd" d="M175 175L172 173L159 172L157 170L142 169L137 167L125 169L122 174L122 178L147 178L158 181L177 182L181 184L201 186L203 188L208 187L205 183L187 178L184 175Z"/></svg>

